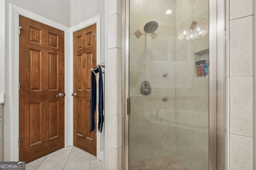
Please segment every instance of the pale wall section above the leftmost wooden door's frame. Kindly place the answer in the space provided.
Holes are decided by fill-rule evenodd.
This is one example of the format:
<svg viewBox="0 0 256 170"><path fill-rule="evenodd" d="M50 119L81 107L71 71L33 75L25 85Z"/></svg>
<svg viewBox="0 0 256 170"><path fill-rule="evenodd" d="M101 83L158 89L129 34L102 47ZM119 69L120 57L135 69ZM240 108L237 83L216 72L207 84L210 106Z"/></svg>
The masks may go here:
<svg viewBox="0 0 256 170"><path fill-rule="evenodd" d="M9 4L70 27L70 0L6 0Z"/></svg>

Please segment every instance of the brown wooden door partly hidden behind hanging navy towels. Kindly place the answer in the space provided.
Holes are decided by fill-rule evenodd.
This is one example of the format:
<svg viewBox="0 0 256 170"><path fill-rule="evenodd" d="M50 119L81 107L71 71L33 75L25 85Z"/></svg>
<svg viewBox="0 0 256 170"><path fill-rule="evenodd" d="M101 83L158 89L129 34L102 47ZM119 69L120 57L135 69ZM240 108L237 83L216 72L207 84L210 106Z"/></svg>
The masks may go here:
<svg viewBox="0 0 256 170"><path fill-rule="evenodd" d="M90 75L91 68L96 66L95 34L96 23L73 34L74 93L76 93L74 97L74 146L94 155L96 155L96 128L90 133Z"/></svg>

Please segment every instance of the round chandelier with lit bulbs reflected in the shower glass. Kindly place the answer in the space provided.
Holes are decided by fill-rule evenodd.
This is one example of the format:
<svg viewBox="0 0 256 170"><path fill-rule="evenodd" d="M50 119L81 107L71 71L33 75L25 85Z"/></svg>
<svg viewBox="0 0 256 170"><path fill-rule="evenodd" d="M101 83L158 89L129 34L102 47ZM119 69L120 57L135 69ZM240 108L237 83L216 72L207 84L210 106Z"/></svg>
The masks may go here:
<svg viewBox="0 0 256 170"><path fill-rule="evenodd" d="M194 18L180 23L178 27L178 39L189 41L200 39L208 33L208 20Z"/></svg>

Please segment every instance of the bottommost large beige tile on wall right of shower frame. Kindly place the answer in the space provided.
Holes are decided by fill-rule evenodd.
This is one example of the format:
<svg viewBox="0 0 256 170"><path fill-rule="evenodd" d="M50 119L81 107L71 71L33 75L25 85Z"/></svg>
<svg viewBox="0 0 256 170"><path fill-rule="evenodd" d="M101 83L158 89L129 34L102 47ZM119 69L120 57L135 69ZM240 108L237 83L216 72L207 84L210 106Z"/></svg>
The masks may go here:
<svg viewBox="0 0 256 170"><path fill-rule="evenodd" d="M230 170L254 170L254 138L230 134Z"/></svg>

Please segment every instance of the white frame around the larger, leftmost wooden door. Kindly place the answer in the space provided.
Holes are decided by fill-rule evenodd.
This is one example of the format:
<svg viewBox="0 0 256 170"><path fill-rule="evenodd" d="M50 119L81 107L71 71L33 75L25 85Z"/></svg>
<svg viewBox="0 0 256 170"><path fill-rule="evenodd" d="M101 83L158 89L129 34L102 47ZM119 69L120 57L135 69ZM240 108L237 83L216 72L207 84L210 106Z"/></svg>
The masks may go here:
<svg viewBox="0 0 256 170"><path fill-rule="evenodd" d="M18 6L14 6L13 4L10 4L10 66L11 66L11 73L10 73L10 132L12 134L10 135L10 158L12 161L18 161L19 160L19 146L18 146L18 139L19 139L19 90L18 90L18 83L19 83L19 15L25 16L27 18L30 18L32 20L39 21L41 23L44 23L46 25L50 25L52 27L55 27L57 29L60 29L64 31L65 33L65 92L66 94L70 94L69 88L67 88L70 84L70 67L69 62L70 61L70 47L69 47L69 39L70 39L70 33L69 27L66 27L64 25L61 25L59 23L56 23L54 21L51 21L47 18L44 18L42 16L39 16L37 14L34 14L32 12L29 12L27 10L24 10ZM70 119L69 114L69 105L68 100L71 98L69 95L66 95L65 97L65 147L70 145L70 139L72 136L70 136L70 122L68 121Z"/></svg>

